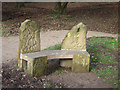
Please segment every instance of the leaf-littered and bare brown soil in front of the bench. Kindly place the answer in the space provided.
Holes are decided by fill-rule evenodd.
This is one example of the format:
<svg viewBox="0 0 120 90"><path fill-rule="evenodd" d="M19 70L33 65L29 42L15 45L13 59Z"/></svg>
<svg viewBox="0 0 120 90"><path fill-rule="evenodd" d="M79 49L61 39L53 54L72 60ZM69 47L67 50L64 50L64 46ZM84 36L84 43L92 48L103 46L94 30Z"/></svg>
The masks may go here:
<svg viewBox="0 0 120 90"><path fill-rule="evenodd" d="M4 64L3 64L4 65ZM13 65L13 64L12 64ZM16 65L16 64L15 64ZM3 88L113 88L113 85L106 84L103 79L94 72L74 73L70 69L56 67L64 73L49 73L41 77L31 77L19 71L16 66L3 66L2 87ZM54 64L55 65L55 64ZM51 66L53 67L53 66ZM50 82L50 86L45 85Z"/></svg>

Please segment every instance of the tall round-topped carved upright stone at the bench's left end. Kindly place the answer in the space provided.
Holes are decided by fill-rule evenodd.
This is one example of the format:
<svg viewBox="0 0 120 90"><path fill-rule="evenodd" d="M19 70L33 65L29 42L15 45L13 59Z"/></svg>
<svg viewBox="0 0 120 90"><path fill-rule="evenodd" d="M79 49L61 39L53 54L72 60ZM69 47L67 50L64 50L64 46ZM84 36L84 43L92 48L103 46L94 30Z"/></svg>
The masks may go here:
<svg viewBox="0 0 120 90"><path fill-rule="evenodd" d="M40 51L40 29L35 21L25 20L20 26L18 66L22 68L20 54Z"/></svg>

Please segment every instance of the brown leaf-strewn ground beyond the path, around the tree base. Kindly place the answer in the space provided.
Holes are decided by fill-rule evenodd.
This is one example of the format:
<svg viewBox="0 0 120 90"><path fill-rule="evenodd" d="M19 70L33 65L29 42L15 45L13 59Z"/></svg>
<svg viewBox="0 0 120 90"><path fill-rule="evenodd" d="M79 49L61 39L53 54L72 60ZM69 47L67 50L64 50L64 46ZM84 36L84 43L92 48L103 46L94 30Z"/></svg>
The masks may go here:
<svg viewBox="0 0 120 90"><path fill-rule="evenodd" d="M54 6L55 3L39 2L17 8L16 3L3 3L3 30L19 34L20 23L31 19L38 22L41 31L70 30L83 22L89 31L118 33L118 3L69 3L63 15L53 14Z"/></svg>

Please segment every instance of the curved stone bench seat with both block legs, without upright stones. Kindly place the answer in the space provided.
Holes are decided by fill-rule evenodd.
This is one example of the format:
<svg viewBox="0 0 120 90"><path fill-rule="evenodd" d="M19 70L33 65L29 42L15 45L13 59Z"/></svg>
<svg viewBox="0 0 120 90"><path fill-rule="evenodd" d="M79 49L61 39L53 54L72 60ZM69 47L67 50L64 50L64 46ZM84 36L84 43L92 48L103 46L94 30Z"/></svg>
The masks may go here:
<svg viewBox="0 0 120 90"><path fill-rule="evenodd" d="M87 51L44 50L20 55L22 69L32 76L46 74L48 60L65 58L72 58L73 72L89 72L90 55Z"/></svg>

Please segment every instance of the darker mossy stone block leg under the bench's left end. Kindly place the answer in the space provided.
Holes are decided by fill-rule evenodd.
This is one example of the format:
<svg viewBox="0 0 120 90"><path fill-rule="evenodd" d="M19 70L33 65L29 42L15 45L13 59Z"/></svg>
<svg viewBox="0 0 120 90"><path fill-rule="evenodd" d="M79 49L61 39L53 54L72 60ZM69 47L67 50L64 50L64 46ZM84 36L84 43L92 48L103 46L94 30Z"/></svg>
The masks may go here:
<svg viewBox="0 0 120 90"><path fill-rule="evenodd" d="M41 76L47 73L47 56L33 60L23 60L23 70L32 76Z"/></svg>

